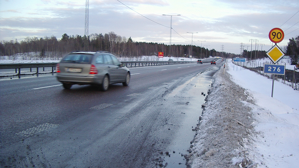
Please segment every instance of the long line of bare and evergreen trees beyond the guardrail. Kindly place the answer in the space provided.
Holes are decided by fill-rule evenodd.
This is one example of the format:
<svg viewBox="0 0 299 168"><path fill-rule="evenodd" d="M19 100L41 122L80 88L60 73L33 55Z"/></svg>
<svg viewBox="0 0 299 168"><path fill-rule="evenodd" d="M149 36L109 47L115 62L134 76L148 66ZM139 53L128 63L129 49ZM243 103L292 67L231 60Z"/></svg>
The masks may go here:
<svg viewBox="0 0 299 168"><path fill-rule="evenodd" d="M84 45L87 41L87 46ZM192 51L191 51L192 49ZM215 49L205 49L191 45L169 45L147 42L134 42L133 39L121 37L114 32L108 34L62 35L58 40L55 36L37 38L27 37L25 40L0 41L0 56L11 56L18 53L38 52L40 57L62 57L72 51L108 51L118 57L140 57L158 55L164 52L164 57L189 57L192 53L193 58L224 57L234 58L238 55L225 52L218 52Z"/></svg>

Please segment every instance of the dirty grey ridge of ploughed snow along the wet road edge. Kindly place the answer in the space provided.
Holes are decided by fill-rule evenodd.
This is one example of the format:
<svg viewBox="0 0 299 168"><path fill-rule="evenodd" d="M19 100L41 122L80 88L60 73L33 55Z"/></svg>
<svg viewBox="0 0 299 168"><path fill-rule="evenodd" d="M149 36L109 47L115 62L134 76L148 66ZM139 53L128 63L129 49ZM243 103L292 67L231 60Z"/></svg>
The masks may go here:
<svg viewBox="0 0 299 168"><path fill-rule="evenodd" d="M188 167L256 167L251 154L256 133L245 89L223 74L221 68L206 98L205 110L187 156Z"/></svg>

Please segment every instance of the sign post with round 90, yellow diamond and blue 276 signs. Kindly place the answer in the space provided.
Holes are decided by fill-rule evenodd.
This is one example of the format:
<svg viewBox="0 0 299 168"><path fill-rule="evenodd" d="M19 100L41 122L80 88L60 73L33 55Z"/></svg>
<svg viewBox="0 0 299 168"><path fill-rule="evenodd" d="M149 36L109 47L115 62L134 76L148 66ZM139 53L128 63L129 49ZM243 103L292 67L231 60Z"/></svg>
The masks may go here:
<svg viewBox="0 0 299 168"><path fill-rule="evenodd" d="M269 39L275 43L275 45L266 53L268 57L271 59L273 64L277 63L283 56L284 53L278 47L277 43L280 43L284 38L284 33L279 28L274 28L269 32ZM284 65L273 65L273 64L264 64L264 73L272 74L272 94L273 97L273 90L274 90L274 75L284 75L285 66ZM283 71L282 71L283 69ZM283 74L282 74L283 72Z"/></svg>

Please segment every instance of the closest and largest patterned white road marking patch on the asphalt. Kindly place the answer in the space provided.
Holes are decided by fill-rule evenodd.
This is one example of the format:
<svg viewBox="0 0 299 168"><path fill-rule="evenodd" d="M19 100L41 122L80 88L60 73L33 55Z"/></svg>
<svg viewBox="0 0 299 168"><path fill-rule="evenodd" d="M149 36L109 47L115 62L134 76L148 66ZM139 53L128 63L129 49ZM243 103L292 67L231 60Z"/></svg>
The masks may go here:
<svg viewBox="0 0 299 168"><path fill-rule="evenodd" d="M15 133L15 134L19 135L19 136L23 136L23 137L30 137L34 134L38 134L42 131L47 131L49 129L52 129L52 128L55 128L55 127L58 127L58 126L59 125L56 125L56 124L45 123L45 124L38 125L36 127L29 128L29 129L26 129L25 131L21 131L19 133Z"/></svg>

